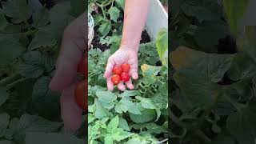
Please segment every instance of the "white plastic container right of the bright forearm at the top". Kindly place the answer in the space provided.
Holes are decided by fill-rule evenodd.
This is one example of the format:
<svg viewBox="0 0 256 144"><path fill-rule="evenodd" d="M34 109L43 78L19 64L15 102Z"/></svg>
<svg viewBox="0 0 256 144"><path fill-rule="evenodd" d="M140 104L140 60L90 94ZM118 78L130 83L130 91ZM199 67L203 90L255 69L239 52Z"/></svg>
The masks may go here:
<svg viewBox="0 0 256 144"><path fill-rule="evenodd" d="M168 14L159 0L150 0L150 9L146 20L146 32L155 40L158 31L168 29Z"/></svg>

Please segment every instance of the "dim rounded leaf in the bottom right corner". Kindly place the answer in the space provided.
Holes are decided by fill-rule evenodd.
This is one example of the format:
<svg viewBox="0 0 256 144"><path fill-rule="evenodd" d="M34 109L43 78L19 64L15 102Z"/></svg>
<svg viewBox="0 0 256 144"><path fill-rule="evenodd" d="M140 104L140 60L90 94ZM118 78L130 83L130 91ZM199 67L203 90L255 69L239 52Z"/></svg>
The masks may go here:
<svg viewBox="0 0 256 144"><path fill-rule="evenodd" d="M226 121L226 127L230 134L242 144L255 142L256 114L249 108L230 114Z"/></svg>

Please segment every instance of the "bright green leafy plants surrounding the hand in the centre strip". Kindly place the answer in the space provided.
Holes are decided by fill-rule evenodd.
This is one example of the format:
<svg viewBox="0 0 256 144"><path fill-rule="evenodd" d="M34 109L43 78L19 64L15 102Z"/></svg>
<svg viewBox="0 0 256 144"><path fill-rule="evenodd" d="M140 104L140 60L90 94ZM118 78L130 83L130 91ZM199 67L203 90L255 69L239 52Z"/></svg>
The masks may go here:
<svg viewBox="0 0 256 144"><path fill-rule="evenodd" d="M166 143L166 29L159 31L155 42L150 42L146 31L143 32L138 52L139 79L134 81L134 90L106 89L103 73L107 59L120 44L124 3L123 0L90 0L89 3L95 26L88 53L88 143ZM114 70L114 80L119 80L117 74L122 70Z"/></svg>

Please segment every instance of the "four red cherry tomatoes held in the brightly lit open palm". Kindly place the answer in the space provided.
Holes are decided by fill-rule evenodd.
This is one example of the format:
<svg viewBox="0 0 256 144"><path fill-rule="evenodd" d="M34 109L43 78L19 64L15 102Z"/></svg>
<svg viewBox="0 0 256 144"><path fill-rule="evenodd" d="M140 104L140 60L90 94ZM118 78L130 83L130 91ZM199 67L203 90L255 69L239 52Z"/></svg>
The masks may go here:
<svg viewBox="0 0 256 144"><path fill-rule="evenodd" d="M122 64L122 66L115 66L112 70L113 75L111 77L111 82L117 85L120 81L128 82L130 80L129 75L130 65L128 63Z"/></svg>

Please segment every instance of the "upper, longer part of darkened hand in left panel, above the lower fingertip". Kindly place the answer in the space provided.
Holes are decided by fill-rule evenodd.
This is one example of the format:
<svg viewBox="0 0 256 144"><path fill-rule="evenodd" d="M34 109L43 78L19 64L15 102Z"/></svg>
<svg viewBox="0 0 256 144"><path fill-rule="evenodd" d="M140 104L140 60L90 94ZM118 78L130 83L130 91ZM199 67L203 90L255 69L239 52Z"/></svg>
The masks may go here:
<svg viewBox="0 0 256 144"><path fill-rule="evenodd" d="M86 13L85 13L86 14ZM66 27L62 37L62 47L57 60L57 66L54 78L50 82L50 89L61 91L74 82L77 74L77 67L82 58L82 51L86 50L86 41L84 38L86 15L80 17L70 23Z"/></svg>

